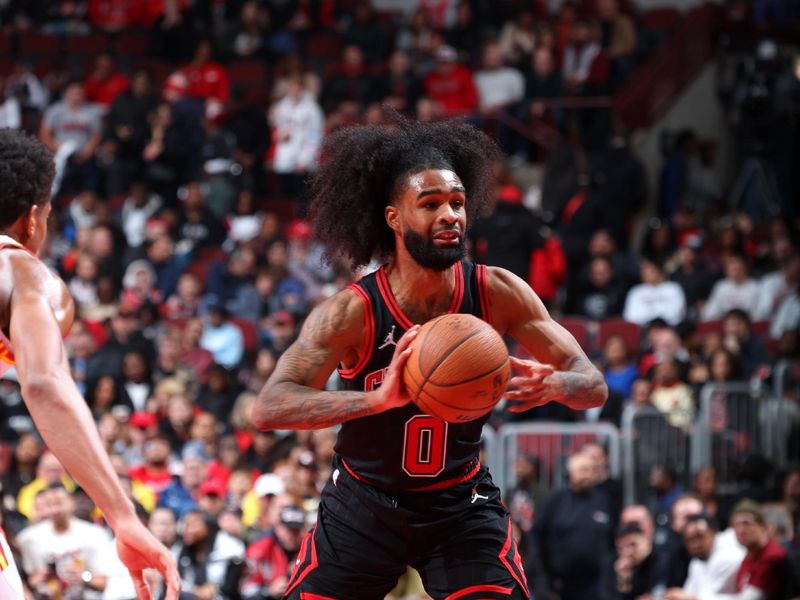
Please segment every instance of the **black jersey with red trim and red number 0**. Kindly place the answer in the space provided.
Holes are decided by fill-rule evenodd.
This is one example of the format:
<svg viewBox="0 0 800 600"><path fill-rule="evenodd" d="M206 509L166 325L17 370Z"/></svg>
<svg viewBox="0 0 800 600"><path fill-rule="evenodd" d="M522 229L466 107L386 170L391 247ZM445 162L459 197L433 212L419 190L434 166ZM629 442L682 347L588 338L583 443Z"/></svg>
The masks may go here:
<svg viewBox="0 0 800 600"><path fill-rule="evenodd" d="M456 263L448 312L469 313L491 323L486 267ZM364 303L366 336L357 364L340 369L345 389L377 388L392 361L397 340L413 326L397 304L384 267L350 286ZM481 429L488 415L467 423L445 423L413 403L342 424L336 452L345 468L367 483L389 490L447 487L477 473Z"/></svg>

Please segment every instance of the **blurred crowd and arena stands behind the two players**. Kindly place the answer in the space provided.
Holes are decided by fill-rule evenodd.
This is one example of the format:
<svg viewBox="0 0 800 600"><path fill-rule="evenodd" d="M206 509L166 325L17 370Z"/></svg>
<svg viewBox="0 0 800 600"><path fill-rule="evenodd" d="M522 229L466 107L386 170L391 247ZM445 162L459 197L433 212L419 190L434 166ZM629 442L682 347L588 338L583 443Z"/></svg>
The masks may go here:
<svg viewBox="0 0 800 600"><path fill-rule="evenodd" d="M0 1L0 127L55 153L73 375L186 597L280 598L313 527L336 432L249 411L358 276L323 261L307 178L384 106L497 140L471 256L527 280L611 390L485 428L535 597L692 597L697 513L753 517L784 549L763 598L800 596L799 34L796 0ZM13 370L0 413L32 597L133 598ZM391 597L426 596L409 572Z"/></svg>

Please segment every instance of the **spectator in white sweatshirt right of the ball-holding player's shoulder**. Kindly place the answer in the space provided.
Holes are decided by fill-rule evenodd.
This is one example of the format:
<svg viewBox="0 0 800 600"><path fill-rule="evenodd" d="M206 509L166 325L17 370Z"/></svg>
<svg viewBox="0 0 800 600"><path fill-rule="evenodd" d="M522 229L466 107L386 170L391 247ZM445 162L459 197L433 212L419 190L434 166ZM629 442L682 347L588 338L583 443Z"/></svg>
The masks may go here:
<svg viewBox="0 0 800 600"><path fill-rule="evenodd" d="M642 283L633 286L625 297L622 316L626 321L645 325L664 319L677 325L686 314L686 298L674 281L666 281L663 267L648 259L641 262Z"/></svg>

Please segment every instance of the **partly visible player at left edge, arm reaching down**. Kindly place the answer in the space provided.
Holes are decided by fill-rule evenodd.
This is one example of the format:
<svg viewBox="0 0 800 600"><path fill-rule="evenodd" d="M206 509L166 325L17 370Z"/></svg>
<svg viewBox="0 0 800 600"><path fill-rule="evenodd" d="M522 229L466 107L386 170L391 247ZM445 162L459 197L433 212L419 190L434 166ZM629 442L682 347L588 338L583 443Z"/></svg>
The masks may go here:
<svg viewBox="0 0 800 600"><path fill-rule="evenodd" d="M62 336L75 312L64 282L36 257L47 235L53 157L37 140L0 130L0 374L16 366L22 397L47 447L103 511L140 600L158 569L167 598L180 578L169 551L139 521L72 380ZM0 598L21 600L22 582L0 532Z"/></svg>

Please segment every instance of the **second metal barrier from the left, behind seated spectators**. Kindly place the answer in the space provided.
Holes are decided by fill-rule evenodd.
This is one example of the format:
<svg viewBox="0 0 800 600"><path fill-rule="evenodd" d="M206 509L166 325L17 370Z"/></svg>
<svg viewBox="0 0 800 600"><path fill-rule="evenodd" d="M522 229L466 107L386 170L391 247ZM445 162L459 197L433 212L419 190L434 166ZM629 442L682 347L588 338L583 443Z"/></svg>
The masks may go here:
<svg viewBox="0 0 800 600"><path fill-rule="evenodd" d="M686 487L691 479L691 437L654 406L628 405L622 413L625 503L647 500L650 471L670 465Z"/></svg>

